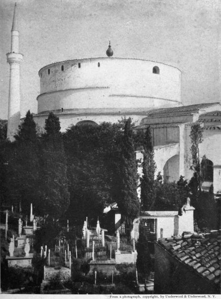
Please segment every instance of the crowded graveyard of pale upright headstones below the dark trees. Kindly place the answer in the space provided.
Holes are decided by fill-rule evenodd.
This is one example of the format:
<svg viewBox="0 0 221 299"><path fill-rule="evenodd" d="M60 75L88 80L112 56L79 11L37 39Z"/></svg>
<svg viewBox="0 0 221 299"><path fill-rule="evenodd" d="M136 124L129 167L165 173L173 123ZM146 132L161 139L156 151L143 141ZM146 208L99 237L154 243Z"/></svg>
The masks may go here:
<svg viewBox="0 0 221 299"><path fill-rule="evenodd" d="M38 250L38 231L45 219L32 214L32 204L29 217L14 213L13 207L11 211L6 210L4 216L5 226L1 229L1 237L4 232L7 251L5 256L1 254L1 259L4 259L3 271L10 284L1 284L3 293L95 294L101 292L101 289L109 292L111 288L115 289L115 283L119 283L120 277L125 276L127 270L133 282L130 293L135 291L137 240L120 234L119 229L115 236L110 236L108 230L100 226L99 220L96 227L90 227L87 217L81 228L81 238L74 240L76 236L73 235L71 240L74 228L69 226L67 220L63 236L57 236L48 244L41 244ZM17 217L19 218L16 219ZM67 239L65 234L69 236ZM10 289L10 273L13 272L28 273L30 279L21 282L20 286L15 284Z"/></svg>

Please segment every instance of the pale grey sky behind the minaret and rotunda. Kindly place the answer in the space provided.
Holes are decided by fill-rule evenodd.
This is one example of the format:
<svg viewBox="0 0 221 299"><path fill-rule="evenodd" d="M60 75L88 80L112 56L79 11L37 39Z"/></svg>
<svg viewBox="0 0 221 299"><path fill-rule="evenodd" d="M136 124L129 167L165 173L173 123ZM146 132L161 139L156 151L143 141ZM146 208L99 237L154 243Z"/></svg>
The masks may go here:
<svg viewBox="0 0 221 299"><path fill-rule="evenodd" d="M38 70L77 58L164 62L182 71L182 102L220 102L220 0L17 0L21 115L37 113ZM0 118L7 118L14 0L0 0Z"/></svg>

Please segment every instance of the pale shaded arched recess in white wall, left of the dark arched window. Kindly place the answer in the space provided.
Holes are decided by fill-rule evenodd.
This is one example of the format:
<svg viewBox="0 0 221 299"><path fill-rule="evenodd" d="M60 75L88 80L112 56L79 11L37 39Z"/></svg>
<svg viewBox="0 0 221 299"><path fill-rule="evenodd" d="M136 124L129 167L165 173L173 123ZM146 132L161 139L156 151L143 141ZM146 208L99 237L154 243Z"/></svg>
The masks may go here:
<svg viewBox="0 0 221 299"><path fill-rule="evenodd" d="M163 167L164 182L173 182L179 180L180 159L179 154L176 154L166 161Z"/></svg>

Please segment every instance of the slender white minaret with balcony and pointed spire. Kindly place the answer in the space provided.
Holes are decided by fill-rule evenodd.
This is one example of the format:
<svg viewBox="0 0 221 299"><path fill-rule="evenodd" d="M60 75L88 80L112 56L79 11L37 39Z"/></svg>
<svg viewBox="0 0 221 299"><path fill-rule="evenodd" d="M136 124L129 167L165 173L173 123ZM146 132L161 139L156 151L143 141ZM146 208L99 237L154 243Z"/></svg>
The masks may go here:
<svg viewBox="0 0 221 299"><path fill-rule="evenodd" d="M11 28L11 51L6 54L10 65L7 139L14 141L14 134L20 124L20 63L23 55L19 53L19 31L16 22L16 2Z"/></svg>

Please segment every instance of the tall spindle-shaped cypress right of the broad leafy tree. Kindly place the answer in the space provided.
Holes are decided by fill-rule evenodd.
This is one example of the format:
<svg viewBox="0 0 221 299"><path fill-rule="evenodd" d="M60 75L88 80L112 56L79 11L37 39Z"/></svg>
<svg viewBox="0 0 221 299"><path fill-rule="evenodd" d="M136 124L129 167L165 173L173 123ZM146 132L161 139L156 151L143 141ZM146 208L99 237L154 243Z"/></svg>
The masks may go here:
<svg viewBox="0 0 221 299"><path fill-rule="evenodd" d="M119 160L119 194L117 205L129 226L139 214L139 200L137 197L137 169L136 158L132 139L131 119L125 122Z"/></svg>

